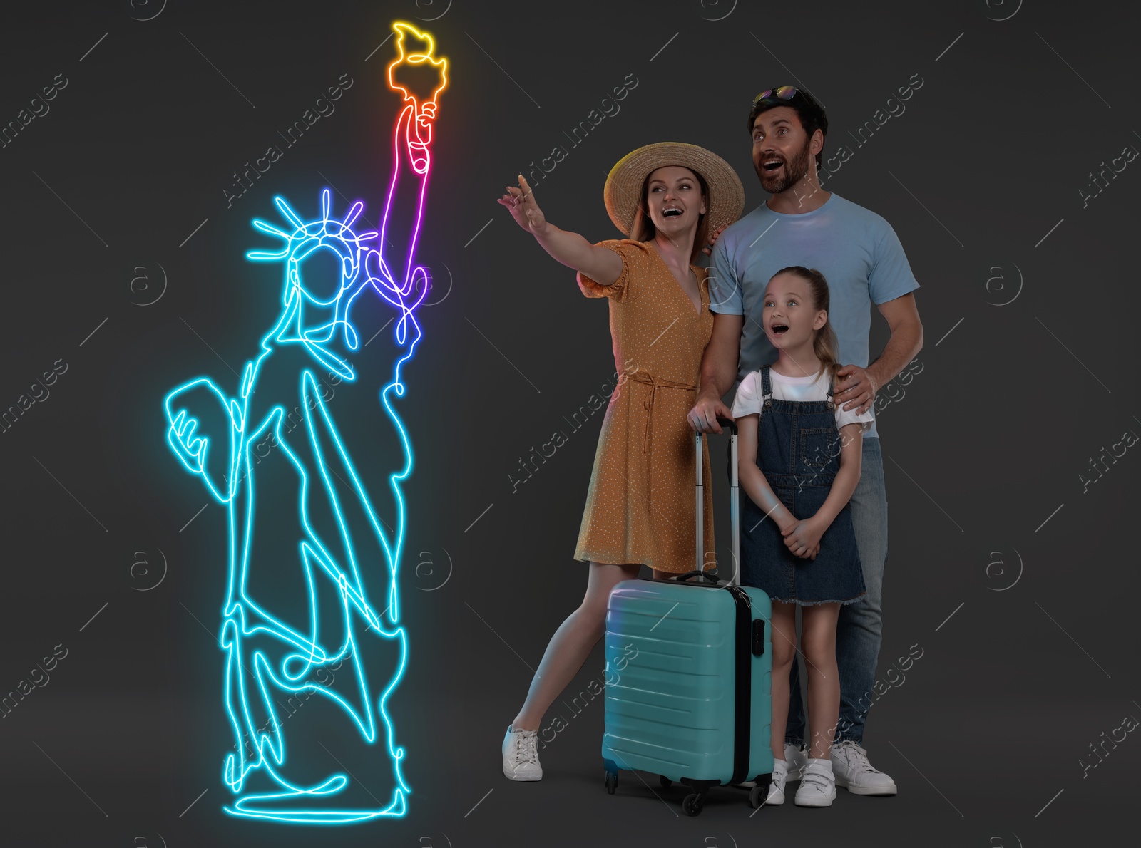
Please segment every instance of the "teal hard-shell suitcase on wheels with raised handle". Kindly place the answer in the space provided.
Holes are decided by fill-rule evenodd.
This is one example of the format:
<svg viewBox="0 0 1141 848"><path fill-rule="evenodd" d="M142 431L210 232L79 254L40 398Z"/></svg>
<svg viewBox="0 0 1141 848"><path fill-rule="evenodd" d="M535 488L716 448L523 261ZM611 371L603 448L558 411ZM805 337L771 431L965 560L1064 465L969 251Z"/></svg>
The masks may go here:
<svg viewBox="0 0 1141 848"><path fill-rule="evenodd" d="M662 786L678 781L691 789L682 802L691 816L701 813L709 789L721 784L755 781L750 804L760 806L772 774L772 608L762 590L737 585L736 429L730 435L729 581L701 571L701 439L697 434L698 570L671 580L625 580L614 588L604 677L607 791L615 791L618 769L656 773Z"/></svg>

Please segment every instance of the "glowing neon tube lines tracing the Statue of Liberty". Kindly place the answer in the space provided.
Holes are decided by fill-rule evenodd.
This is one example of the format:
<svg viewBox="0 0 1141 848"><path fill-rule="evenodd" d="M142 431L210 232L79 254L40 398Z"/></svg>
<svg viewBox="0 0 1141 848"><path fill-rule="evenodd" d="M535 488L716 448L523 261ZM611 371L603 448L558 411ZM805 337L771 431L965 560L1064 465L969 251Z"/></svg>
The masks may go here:
<svg viewBox="0 0 1141 848"><path fill-rule="evenodd" d="M324 189L321 195L321 219L309 222L302 221L283 198L275 197L274 203L288 221L286 228L281 229L260 220L254 220L253 226L268 235L283 239L284 246L278 252L251 251L246 258L252 261L284 261L285 286L282 312L274 327L262 336L260 354L246 364L237 397L228 398L209 377L199 377L177 386L164 400L167 419L170 424L167 438L171 449L188 472L202 475L211 496L219 503L226 504L229 520L229 573L219 642L226 651L225 706L237 741L238 755L230 753L226 757L222 776L235 794L241 793L250 772L264 772L281 789L281 791L248 793L240 797L232 806L224 808L235 816L305 824L343 824L380 816L403 816L407 809L406 796L411 790L400 775L404 749L394 747L394 731L386 710L386 702L400 680L407 660L405 630L397 623L399 621L397 572L404 545L405 519L405 505L399 483L412 472L413 454L407 432L393 407L391 394L403 397L404 384L400 380L400 367L412 358L421 337L420 326L413 312L427 295L429 286L427 272L423 268L414 264L413 256L420 235L430 168L431 123L436 114L436 97L446 85L446 60L432 56L435 44L427 33L419 32L413 26L402 22L395 23L394 30L397 33L399 56L389 65L388 79L389 85L404 95L405 106L397 120L394 133L393 178L385 205L385 215L380 223L380 238L378 239L377 233L358 235L353 230L353 225L364 207L364 204L359 202L349 209L342 220L332 218L330 215L329 189ZM427 42L427 48L420 52L406 52L404 43L406 35ZM393 72L400 64L424 62L429 62L436 67L442 82L432 92L431 98L421 104L404 87L394 82ZM403 165L411 166L418 176L419 190L412 235L405 254L405 267L402 269L399 282L397 282L382 254L378 250L369 247L366 243L370 239L377 239L378 245L385 243L383 234L389 223L389 213L400 181ZM306 258L322 248L332 251L339 258L341 267L340 287L331 297L325 299L315 295L306 287L300 267ZM294 450L290 449L288 440L284 438L285 434L282 432L282 423L286 415L285 409L281 405L274 405L251 427L250 415L251 413L257 414L257 410L251 409L251 400L262 365L276 350L283 349L285 345L301 345L308 357L322 369L338 375L346 382L354 382L356 373L351 364L339 354L335 348L343 345L348 351L357 350L359 336L350 321L349 313L354 300L367 286L372 286L373 291L399 310L399 319L394 327L394 334L397 344L403 348L403 352L394 365L391 382L380 391L381 405L396 426L405 457L404 467L388 478L397 508L397 529L394 539L390 540L386 536L377 519L369 496L321 393L317 391L317 378L310 368L306 367L301 370L298 386L304 401L301 406L305 409L307 447L316 459L319 486L323 488L335 517L340 533L339 541L345 552L343 561L338 562L338 557L327 549L327 546L322 543L318 533L310 525L306 509L310 478L306 473L305 463ZM323 312L325 315L322 315ZM311 321L311 313L316 313L316 321ZM327 320L325 320L326 318ZM228 435L229 456L225 463L228 472L224 474L221 480L208 471L210 467L209 451L212 439L225 437L221 434L200 435L196 432L197 418L181 406L186 402L193 402L194 396L203 393L207 398L212 397L209 402L217 402L225 410L225 419L229 424L229 432L225 434ZM309 635L280 621L245 593L245 576L250 564L250 544L254 519L253 466L258 464L253 459L252 451L254 446L262 441L266 435L270 435L273 447L281 449L282 455L292 464L300 479L298 508L302 540L299 543L298 553L309 590ZM331 450L322 448L322 439L332 442ZM338 495L338 487L330 478L331 471L335 474L335 471L330 467L330 460L333 462L334 466L340 465L347 472L351 483L346 482L340 475L337 476L355 495L383 551L390 588L388 605L379 614L367 600L357 563L357 554L345 522L341 497ZM346 638L345 643L335 651L327 651L318 642L315 574L327 577L340 592ZM338 773L316 785L304 786L283 776L281 769L285 764L285 739L282 723L274 708L276 700L270 696L269 685L272 684L282 692L318 694L330 699L338 703L353 719L364 740L370 744L374 743L377 723L365 671L356 652L356 639L351 627L354 611L367 622L369 631L375 631L385 639L396 639L399 644L399 668L377 701L377 712L379 712L385 726L385 739L397 785L387 807L338 808L332 806L310 808L306 804L307 801L335 796L349 784L349 777ZM386 627L386 622L390 627ZM286 651L294 652L283 657L276 669L260 650L253 651L248 658L244 658L243 639L259 633L272 636L282 643ZM243 659L248 659L249 664ZM311 679L315 670L317 672L326 671L331 666L340 668L346 662L351 663L359 704L349 703L331 688L322 683L314 683ZM252 670L250 666L252 666ZM256 684L257 706L264 715L268 715L268 720L261 727L256 726L257 721L253 718L254 712L251 710L246 677ZM267 728L268 732L266 732ZM246 758L245 740L251 740L250 751L252 756L249 758Z"/></svg>

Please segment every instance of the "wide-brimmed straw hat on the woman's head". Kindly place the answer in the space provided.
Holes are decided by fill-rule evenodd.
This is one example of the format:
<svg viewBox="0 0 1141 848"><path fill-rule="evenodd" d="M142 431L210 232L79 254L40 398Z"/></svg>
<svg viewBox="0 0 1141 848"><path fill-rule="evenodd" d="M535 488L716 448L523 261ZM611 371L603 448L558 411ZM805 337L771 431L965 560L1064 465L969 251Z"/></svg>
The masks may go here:
<svg viewBox="0 0 1141 848"><path fill-rule="evenodd" d="M623 156L606 178L602 188L606 211L623 235L629 236L633 227L646 178L666 165L688 168L705 180L710 189L705 213L710 233L741 218L745 207L745 188L728 162L697 145L658 141Z"/></svg>

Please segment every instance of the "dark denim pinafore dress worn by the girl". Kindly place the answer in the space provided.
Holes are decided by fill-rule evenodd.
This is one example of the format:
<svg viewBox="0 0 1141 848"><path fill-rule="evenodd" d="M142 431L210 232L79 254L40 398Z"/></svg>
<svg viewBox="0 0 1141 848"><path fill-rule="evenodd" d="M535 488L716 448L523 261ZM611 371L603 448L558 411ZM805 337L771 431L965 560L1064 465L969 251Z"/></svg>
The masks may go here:
<svg viewBox="0 0 1141 848"><path fill-rule="evenodd" d="M763 407L758 425L756 466L793 515L816 514L840 471L832 388L827 400L774 400L768 366L761 368ZM820 537L815 560L801 558L784 544L771 517L744 497L741 515L741 582L763 589L774 601L801 605L848 603L865 594L851 507L836 515Z"/></svg>

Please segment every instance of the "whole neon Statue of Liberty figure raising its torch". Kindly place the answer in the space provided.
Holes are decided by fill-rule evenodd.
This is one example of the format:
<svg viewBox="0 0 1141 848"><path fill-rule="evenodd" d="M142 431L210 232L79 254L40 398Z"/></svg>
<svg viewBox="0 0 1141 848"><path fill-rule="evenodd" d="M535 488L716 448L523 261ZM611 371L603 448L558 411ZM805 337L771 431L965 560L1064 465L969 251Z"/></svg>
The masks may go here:
<svg viewBox="0 0 1141 848"><path fill-rule="evenodd" d="M308 221L275 197L284 223L253 223L281 239L281 247L248 258L284 264L280 316L246 362L236 396L200 377L171 391L164 403L170 447L228 511L219 642L235 743L222 774L236 798L225 809L235 816L342 824L406 810L404 750L394 742L386 702L406 657L397 569L404 544L400 482L412 471L412 450L393 399L404 393L400 367L421 335L414 311L428 279L414 255L447 63L434 56L429 34L402 22L393 28L398 58L388 66L388 80L404 100L380 233L354 229L359 202L335 217L327 189L321 217ZM430 96L418 98L400 74L419 74L421 82L427 74ZM398 194L414 197L415 209L410 221L398 222L410 234L407 250L393 256L382 251ZM358 380L363 360L355 366L354 354L363 349L354 303L378 305L357 302L364 293L395 309L397 359L380 391L393 431L389 452L400 465L388 476L395 523L378 517L329 402L331 385L350 393ZM353 416L342 425L353 426ZM375 422L370 430L375 440ZM362 774L369 776L364 783ZM387 800L378 774L391 784Z"/></svg>

